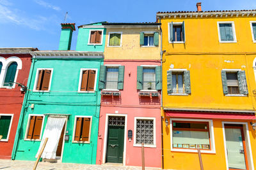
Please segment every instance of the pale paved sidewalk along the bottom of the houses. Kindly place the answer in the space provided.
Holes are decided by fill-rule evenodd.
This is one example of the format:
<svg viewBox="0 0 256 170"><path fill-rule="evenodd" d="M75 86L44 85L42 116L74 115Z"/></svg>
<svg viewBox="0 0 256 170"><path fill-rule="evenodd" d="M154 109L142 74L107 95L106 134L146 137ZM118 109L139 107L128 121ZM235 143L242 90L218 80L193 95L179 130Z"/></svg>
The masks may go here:
<svg viewBox="0 0 256 170"><path fill-rule="evenodd" d="M0 169L9 170L9 169L19 169L19 170L29 170L33 169L35 161L28 160L0 160ZM104 165L88 165L88 164L69 164L69 163L49 163L49 162L39 162L36 170L80 170L80 169L111 169L111 170L141 170L141 167L134 166L119 166L113 164L104 164ZM147 170L154 170L157 168L146 168Z"/></svg>

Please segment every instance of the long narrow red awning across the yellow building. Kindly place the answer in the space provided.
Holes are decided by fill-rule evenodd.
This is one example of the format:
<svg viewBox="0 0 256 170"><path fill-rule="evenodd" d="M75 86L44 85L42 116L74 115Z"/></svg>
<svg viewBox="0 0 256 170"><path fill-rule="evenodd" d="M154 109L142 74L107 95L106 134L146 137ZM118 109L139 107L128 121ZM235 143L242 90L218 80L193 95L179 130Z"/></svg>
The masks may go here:
<svg viewBox="0 0 256 170"><path fill-rule="evenodd" d="M239 119L239 120L256 120L254 114L248 113L209 113L209 112L176 112L165 111L166 117L176 118L221 118L221 119Z"/></svg>

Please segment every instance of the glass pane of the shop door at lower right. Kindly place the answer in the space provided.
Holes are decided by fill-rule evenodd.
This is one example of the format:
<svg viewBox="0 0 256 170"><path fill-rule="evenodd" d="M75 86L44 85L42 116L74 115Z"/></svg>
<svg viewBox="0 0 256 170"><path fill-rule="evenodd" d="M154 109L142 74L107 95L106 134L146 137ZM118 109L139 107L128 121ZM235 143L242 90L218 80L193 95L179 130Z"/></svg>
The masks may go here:
<svg viewBox="0 0 256 170"><path fill-rule="evenodd" d="M241 129L225 128L228 167L246 169Z"/></svg>

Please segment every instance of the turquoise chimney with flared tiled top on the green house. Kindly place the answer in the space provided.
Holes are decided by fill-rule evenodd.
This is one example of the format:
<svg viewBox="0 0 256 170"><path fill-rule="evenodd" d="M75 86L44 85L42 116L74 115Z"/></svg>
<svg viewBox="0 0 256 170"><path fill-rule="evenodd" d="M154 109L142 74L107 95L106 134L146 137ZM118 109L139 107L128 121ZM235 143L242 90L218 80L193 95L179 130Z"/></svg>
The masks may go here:
<svg viewBox="0 0 256 170"><path fill-rule="evenodd" d="M72 33L76 31L75 23L60 24L60 45L59 50L70 50Z"/></svg>

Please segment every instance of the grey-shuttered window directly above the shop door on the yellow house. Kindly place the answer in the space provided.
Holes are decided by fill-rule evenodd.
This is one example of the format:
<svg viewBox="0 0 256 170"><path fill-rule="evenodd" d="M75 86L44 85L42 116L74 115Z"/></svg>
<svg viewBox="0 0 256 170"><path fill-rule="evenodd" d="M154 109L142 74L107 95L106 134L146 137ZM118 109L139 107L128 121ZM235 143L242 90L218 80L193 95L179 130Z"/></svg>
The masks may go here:
<svg viewBox="0 0 256 170"><path fill-rule="evenodd" d="M246 75L244 71L222 70L221 79L223 94L227 95L247 95Z"/></svg>

